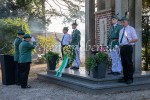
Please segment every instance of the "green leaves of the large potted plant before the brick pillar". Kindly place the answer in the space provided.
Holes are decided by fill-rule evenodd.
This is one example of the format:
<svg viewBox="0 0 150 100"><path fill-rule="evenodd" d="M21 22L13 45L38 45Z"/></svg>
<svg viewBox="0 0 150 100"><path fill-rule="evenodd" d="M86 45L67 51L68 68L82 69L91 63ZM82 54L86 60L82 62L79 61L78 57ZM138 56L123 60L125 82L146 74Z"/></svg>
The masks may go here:
<svg viewBox="0 0 150 100"><path fill-rule="evenodd" d="M99 52L96 55L92 55L89 58L87 58L85 61L85 66L87 71L91 71L103 62L106 62L107 65L109 65L111 61L108 57L108 54L106 54L105 52Z"/></svg>

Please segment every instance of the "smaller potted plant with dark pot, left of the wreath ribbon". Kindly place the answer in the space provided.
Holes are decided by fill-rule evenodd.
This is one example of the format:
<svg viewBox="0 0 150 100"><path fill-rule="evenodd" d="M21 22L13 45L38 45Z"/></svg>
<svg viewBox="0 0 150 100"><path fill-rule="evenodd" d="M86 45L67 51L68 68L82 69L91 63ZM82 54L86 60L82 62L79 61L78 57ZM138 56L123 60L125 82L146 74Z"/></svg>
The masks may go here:
<svg viewBox="0 0 150 100"><path fill-rule="evenodd" d="M48 51L43 57L47 61L47 69L55 70L60 58L59 53Z"/></svg>

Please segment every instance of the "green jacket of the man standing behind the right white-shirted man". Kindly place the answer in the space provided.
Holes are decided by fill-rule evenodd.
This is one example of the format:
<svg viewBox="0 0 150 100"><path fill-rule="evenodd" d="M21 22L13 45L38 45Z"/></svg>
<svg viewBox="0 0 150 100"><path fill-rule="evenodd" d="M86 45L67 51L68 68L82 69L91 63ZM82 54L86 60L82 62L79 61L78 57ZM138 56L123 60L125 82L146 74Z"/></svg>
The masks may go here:
<svg viewBox="0 0 150 100"><path fill-rule="evenodd" d="M115 45L119 45L119 32L122 29L122 26L117 24L114 28L112 25L109 33L108 33L108 41L107 46L111 49L115 47Z"/></svg>

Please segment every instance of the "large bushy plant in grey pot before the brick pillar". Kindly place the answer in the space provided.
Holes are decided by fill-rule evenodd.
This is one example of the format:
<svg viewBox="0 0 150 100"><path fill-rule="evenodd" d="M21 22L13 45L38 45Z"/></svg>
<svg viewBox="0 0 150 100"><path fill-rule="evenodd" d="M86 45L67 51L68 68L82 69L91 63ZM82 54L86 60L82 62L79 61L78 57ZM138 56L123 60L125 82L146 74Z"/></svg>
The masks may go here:
<svg viewBox="0 0 150 100"><path fill-rule="evenodd" d="M86 59L86 70L93 78L105 78L107 66L110 64L108 55L105 52L98 52Z"/></svg>

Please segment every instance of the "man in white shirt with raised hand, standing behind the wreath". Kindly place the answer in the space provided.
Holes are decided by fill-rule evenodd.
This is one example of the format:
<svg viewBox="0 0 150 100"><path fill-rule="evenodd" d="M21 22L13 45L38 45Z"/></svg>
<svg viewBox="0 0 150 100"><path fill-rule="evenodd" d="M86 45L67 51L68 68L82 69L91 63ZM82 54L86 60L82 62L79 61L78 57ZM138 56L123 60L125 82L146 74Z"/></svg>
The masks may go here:
<svg viewBox="0 0 150 100"><path fill-rule="evenodd" d="M63 37L62 37L62 40L60 40L60 39L57 37L57 35L55 34L56 40L61 43L62 57L64 56L64 54L63 54L63 47L68 46L69 43L70 43L70 41L71 41L71 35L68 34L68 30L69 30L68 27L64 27L64 28L63 28L63 33L64 33L64 35L63 35Z"/></svg>

